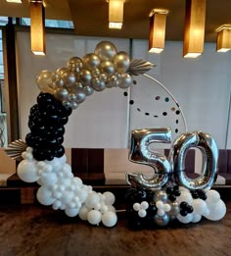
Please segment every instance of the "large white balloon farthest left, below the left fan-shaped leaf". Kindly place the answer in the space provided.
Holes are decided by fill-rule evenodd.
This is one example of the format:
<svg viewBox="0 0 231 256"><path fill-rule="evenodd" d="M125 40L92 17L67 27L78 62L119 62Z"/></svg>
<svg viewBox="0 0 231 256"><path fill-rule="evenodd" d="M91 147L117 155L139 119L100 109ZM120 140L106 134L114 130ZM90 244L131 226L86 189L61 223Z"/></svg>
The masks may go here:
<svg viewBox="0 0 231 256"><path fill-rule="evenodd" d="M24 159L17 168L17 174L25 182L35 182L39 179L35 161Z"/></svg>

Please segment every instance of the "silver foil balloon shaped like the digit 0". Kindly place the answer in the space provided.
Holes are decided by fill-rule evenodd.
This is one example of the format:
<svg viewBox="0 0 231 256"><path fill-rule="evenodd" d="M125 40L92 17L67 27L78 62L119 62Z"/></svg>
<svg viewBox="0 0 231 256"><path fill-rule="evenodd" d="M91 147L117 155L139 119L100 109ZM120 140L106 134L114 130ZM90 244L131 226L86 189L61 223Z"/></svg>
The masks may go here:
<svg viewBox="0 0 231 256"><path fill-rule="evenodd" d="M185 157L192 147L199 148L203 156L202 174L197 179L189 179L185 173ZM193 131L182 134L173 143L169 159L175 179L188 189L209 189L217 178L218 148L208 133Z"/></svg>

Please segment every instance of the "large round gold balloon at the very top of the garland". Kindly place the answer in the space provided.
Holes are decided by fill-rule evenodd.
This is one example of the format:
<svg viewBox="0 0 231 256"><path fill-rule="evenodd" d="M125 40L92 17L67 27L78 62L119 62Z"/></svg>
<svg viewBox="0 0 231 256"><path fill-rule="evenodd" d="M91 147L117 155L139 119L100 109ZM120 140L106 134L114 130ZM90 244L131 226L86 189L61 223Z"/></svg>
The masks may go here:
<svg viewBox="0 0 231 256"><path fill-rule="evenodd" d="M102 61L108 61L114 58L116 48L112 42L102 41L96 45L94 53L98 55Z"/></svg>

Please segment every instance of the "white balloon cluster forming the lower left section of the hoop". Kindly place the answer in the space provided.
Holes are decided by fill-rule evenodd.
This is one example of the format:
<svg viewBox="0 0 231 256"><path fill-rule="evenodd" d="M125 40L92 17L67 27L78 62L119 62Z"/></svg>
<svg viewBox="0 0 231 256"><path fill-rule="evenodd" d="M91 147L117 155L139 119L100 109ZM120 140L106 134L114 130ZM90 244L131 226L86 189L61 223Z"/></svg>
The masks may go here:
<svg viewBox="0 0 231 256"><path fill-rule="evenodd" d="M37 161L33 149L27 147L23 161L18 166L18 175L25 182L35 182L41 186L37 190L37 200L43 205L52 205L54 210L65 210L69 217L79 216L92 225L100 222L113 227L117 222L115 196L111 192L97 193L90 185L73 177L67 157L55 157L52 161Z"/></svg>

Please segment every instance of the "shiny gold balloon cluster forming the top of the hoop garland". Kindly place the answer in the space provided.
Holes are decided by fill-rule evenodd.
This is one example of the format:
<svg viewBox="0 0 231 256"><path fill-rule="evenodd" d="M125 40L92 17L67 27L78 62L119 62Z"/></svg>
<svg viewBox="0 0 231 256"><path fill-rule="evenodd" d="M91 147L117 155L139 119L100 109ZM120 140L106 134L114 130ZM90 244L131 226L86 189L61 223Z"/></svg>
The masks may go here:
<svg viewBox="0 0 231 256"><path fill-rule="evenodd" d="M132 78L126 73L129 65L127 53L117 52L113 43L102 41L94 53L88 53L82 59L70 58L67 68L54 73L42 71L36 82L41 91L54 94L64 106L76 109L94 90L129 87L132 84Z"/></svg>

